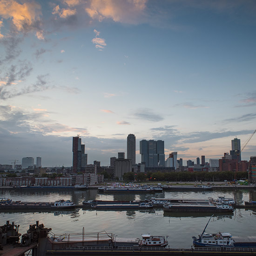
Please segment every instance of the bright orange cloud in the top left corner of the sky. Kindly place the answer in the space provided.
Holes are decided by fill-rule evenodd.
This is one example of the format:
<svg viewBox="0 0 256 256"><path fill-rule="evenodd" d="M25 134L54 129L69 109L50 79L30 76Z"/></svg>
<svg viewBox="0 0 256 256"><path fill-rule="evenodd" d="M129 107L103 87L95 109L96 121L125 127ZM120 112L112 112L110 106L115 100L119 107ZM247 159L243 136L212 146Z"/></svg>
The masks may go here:
<svg viewBox="0 0 256 256"><path fill-rule="evenodd" d="M16 0L1 0L0 15L11 20L13 28L24 33L40 30L41 7L35 1L20 4Z"/></svg>

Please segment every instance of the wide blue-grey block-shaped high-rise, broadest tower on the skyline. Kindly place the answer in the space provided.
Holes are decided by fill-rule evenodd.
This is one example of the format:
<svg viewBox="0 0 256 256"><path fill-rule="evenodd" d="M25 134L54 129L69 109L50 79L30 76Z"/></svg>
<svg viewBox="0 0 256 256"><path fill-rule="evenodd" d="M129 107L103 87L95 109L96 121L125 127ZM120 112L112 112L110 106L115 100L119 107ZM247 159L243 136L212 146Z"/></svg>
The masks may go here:
<svg viewBox="0 0 256 256"><path fill-rule="evenodd" d="M165 167L164 141L140 141L140 154L145 167Z"/></svg>

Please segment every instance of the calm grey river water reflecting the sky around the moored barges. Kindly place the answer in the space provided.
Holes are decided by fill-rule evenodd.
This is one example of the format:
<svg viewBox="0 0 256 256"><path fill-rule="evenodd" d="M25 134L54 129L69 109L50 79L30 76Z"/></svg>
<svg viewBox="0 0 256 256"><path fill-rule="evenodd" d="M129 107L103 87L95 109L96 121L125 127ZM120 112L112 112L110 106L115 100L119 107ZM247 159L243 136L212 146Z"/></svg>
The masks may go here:
<svg viewBox="0 0 256 256"><path fill-rule="evenodd" d="M13 201L54 202L72 200L82 204L86 200L144 200L150 197L161 198L217 198L218 196L234 198L239 204L244 201L256 201L254 190L217 190L163 192L155 194L99 194L96 189L35 191L35 190L0 190L0 198L7 197ZM256 210L256 209L255 209ZM209 220L209 213L164 213L162 209L152 210L92 210L90 208L60 211L25 211L0 210L0 226L7 220L20 225L19 232L24 234L29 224L37 220L52 228L54 234L106 231L119 237L141 237L141 234L168 236L170 248L190 248L192 236L202 233ZM214 216L206 229L207 233L230 232L233 236L256 236L256 211L253 209L235 209L233 213Z"/></svg>

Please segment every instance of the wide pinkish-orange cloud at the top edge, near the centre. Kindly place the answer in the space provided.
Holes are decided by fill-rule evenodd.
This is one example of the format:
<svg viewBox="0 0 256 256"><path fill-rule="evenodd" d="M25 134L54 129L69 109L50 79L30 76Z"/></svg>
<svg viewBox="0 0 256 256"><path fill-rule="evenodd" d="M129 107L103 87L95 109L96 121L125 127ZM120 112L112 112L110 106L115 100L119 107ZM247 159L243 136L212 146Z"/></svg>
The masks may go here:
<svg viewBox="0 0 256 256"><path fill-rule="evenodd" d="M85 11L93 20L112 19L115 22L137 24L146 3L147 0L90 0Z"/></svg>

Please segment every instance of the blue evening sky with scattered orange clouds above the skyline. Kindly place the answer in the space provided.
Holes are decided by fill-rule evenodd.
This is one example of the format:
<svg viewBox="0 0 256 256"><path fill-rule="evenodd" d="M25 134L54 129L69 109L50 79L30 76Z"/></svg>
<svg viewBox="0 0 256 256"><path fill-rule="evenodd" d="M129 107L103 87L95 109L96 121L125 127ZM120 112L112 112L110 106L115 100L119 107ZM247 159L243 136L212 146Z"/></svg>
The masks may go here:
<svg viewBox="0 0 256 256"><path fill-rule="evenodd" d="M256 129L255 81L255 0L0 0L0 164L72 166L76 135L88 163L128 134L137 163L142 139L218 159Z"/></svg>

